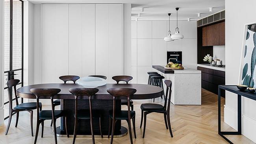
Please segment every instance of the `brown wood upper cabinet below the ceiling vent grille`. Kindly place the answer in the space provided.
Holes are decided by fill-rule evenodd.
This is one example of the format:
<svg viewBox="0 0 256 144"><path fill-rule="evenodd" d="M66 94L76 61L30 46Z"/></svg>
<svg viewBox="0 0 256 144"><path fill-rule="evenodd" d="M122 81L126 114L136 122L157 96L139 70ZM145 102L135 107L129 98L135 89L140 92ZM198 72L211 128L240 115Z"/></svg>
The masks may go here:
<svg viewBox="0 0 256 144"><path fill-rule="evenodd" d="M225 44L225 22L220 22L202 28L202 46L217 46Z"/></svg>

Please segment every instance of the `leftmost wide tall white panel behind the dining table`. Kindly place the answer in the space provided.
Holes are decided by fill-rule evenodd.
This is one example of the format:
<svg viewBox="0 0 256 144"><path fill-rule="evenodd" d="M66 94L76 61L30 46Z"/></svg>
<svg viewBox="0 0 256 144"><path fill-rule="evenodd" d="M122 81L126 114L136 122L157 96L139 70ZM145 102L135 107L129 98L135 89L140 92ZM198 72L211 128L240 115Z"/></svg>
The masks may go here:
<svg viewBox="0 0 256 144"><path fill-rule="evenodd" d="M42 6L42 83L68 74L68 4Z"/></svg>

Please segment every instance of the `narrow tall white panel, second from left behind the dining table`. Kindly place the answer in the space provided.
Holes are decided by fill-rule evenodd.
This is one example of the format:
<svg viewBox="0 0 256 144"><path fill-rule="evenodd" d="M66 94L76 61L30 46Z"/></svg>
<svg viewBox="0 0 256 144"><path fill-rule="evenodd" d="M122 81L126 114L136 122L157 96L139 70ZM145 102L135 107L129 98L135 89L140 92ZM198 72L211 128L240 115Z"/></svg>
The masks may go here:
<svg viewBox="0 0 256 144"><path fill-rule="evenodd" d="M82 4L69 4L69 75L82 76Z"/></svg>

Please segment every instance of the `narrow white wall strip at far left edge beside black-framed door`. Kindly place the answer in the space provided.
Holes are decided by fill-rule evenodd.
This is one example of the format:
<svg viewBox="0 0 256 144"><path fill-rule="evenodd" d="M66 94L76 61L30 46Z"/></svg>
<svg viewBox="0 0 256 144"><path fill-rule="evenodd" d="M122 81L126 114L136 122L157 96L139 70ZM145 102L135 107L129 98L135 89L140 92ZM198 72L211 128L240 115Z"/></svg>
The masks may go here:
<svg viewBox="0 0 256 144"><path fill-rule="evenodd" d="M0 1L0 126L4 124L4 0Z"/></svg>

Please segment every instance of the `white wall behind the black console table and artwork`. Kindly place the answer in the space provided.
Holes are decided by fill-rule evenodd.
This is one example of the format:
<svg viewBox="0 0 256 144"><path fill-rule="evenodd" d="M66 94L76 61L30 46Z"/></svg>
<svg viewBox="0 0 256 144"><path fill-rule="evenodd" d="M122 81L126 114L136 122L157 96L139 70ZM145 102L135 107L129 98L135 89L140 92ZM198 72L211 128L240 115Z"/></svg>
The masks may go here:
<svg viewBox="0 0 256 144"><path fill-rule="evenodd" d="M255 23L256 1L225 0L226 85L236 85L245 24ZM226 93L224 121L237 129L237 96ZM242 98L242 133L256 142L256 101Z"/></svg>

